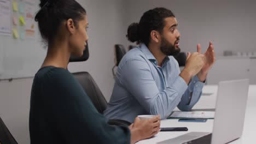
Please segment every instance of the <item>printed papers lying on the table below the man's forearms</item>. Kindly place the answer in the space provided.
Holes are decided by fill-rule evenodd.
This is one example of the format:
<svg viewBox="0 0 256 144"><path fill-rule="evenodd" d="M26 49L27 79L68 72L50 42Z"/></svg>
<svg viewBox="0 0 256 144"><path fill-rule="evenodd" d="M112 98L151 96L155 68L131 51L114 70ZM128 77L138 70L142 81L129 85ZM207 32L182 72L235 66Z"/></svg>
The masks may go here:
<svg viewBox="0 0 256 144"><path fill-rule="evenodd" d="M168 119L179 118L209 118L213 119L215 115L214 111L173 111Z"/></svg>

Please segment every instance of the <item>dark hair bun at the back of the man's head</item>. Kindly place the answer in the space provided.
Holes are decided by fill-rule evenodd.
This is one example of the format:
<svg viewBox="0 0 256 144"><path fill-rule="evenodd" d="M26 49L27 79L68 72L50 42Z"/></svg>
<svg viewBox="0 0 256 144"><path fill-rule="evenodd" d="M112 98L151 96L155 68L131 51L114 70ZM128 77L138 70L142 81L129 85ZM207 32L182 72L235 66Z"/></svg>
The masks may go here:
<svg viewBox="0 0 256 144"><path fill-rule="evenodd" d="M139 23L137 23L137 22L131 23L131 25L127 29L126 37L132 43L135 41L139 41L138 29L139 29Z"/></svg>

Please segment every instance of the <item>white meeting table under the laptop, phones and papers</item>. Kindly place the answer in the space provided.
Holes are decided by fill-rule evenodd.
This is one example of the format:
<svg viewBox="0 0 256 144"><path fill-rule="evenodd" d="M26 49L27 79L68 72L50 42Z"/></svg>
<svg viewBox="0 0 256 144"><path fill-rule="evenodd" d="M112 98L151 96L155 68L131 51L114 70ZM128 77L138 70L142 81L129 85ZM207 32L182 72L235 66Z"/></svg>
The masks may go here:
<svg viewBox="0 0 256 144"><path fill-rule="evenodd" d="M213 93L212 95L202 95L199 102L193 107L193 109L214 109L217 97L218 86L208 85L203 87L204 93ZM178 110L177 108L175 110ZM178 119L164 119L161 121L161 127L187 127L188 131L160 131L154 137L142 140L137 143L156 143L168 139L172 139L179 135L189 133L191 131L201 131L201 132L212 132L213 119L208 119L206 123L187 123L178 122ZM245 124L243 127L242 137L232 144L238 143L255 143L256 141L256 85L249 86L248 100L246 107Z"/></svg>

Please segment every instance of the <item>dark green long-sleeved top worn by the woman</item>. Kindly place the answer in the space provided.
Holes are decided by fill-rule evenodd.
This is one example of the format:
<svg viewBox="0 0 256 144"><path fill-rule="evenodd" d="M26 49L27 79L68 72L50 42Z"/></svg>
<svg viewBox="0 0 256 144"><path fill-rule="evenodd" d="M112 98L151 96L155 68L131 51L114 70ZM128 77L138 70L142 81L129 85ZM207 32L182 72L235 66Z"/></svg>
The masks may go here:
<svg viewBox="0 0 256 144"><path fill-rule="evenodd" d="M33 143L130 143L130 130L107 124L68 70L39 69L30 101Z"/></svg>

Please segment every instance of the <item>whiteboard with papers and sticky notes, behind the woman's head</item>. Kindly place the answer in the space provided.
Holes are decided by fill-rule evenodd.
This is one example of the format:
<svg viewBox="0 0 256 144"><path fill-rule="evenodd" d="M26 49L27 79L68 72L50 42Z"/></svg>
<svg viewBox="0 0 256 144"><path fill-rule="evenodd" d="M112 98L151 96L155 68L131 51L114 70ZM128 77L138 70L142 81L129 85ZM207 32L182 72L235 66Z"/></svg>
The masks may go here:
<svg viewBox="0 0 256 144"><path fill-rule="evenodd" d="M38 11L39 0L16 0L18 3L24 1L34 1L34 11ZM10 0L10 2L13 1ZM12 6L11 8L13 8ZM18 17L26 15L13 10L11 10L11 13L12 15L17 14ZM13 19L13 17L10 17L10 19ZM11 24L16 29L25 27L20 26L20 23L14 25L13 21ZM0 79L30 77L36 74L46 56L46 49L44 49L45 46L42 43L37 22L35 22L34 29L33 38L15 39L13 34L0 35Z"/></svg>

